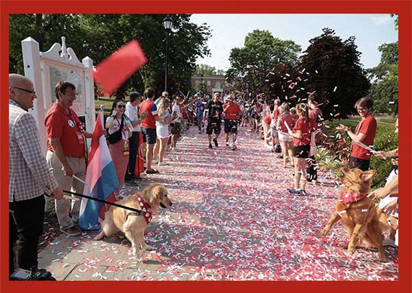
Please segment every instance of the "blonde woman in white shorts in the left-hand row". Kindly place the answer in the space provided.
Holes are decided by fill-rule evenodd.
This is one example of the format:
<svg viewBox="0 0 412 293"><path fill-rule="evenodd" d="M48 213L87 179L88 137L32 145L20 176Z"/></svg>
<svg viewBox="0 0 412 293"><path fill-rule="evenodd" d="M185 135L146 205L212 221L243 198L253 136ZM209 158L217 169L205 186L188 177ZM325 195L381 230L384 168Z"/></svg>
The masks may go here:
<svg viewBox="0 0 412 293"><path fill-rule="evenodd" d="M172 122L172 118L170 117L170 99L163 99L159 103L159 109L157 110L157 114L159 117L163 117L159 121L156 121L156 135L157 138L160 140L160 147L159 147L159 166L165 164L163 159L165 158L166 153L166 146L168 146L168 140L170 136L169 131L169 124Z"/></svg>

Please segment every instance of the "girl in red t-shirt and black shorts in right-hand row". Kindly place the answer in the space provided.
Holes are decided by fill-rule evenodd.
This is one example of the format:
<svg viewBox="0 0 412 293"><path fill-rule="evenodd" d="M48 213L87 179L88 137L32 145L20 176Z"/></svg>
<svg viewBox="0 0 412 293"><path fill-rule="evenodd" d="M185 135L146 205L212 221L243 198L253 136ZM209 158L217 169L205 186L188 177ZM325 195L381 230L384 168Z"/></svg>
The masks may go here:
<svg viewBox="0 0 412 293"><path fill-rule="evenodd" d="M296 106L296 112L299 118L296 121L293 130L288 131L289 135L293 137L295 148L293 155L295 156L295 188L288 189L292 194L306 195L306 159L310 152L310 120L308 105L300 103ZM303 180L301 181L301 178ZM299 183L301 181L301 188Z"/></svg>

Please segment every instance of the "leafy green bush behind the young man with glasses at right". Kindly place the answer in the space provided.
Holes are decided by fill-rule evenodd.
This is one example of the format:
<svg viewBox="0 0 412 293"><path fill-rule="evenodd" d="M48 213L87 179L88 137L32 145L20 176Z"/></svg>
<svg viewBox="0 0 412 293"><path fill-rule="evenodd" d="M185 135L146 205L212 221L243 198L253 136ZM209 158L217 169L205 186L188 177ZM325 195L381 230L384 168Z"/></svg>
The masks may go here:
<svg viewBox="0 0 412 293"><path fill-rule="evenodd" d="M354 120L333 120L325 121L324 124L321 146L327 150L319 149L317 152L317 155L319 153L319 160L317 160L317 162L323 170L332 170L332 174L336 176L339 174L339 168L349 162L351 144L351 140L346 133L335 133L336 126L339 124L347 125L353 131L358 122ZM378 123L374 149L377 151L396 149L398 147L398 136L394 131L395 124ZM323 157L325 162L321 162L321 157ZM331 160L330 157L333 157L333 160ZM338 162L340 164L338 164ZM372 185L377 184L378 187L381 187L385 185L385 179L391 172L393 165L391 164L390 158L382 160L372 155L370 168L377 171Z"/></svg>

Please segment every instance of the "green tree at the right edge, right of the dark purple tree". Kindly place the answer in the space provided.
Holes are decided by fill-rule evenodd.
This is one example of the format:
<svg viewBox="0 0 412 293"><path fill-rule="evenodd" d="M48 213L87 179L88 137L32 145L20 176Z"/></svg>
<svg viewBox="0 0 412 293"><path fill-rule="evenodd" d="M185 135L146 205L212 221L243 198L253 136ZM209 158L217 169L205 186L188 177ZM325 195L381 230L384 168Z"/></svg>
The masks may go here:
<svg viewBox="0 0 412 293"><path fill-rule="evenodd" d="M398 42L381 44L380 63L368 69L374 112L398 114Z"/></svg>

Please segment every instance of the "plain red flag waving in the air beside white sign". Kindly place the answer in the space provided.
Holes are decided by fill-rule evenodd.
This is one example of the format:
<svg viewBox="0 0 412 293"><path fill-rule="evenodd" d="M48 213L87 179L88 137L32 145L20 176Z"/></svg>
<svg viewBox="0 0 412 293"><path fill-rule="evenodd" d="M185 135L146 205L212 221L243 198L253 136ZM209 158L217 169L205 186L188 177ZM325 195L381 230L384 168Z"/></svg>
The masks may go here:
<svg viewBox="0 0 412 293"><path fill-rule="evenodd" d="M96 66L94 79L104 91L113 93L146 61L139 42L132 40Z"/></svg>

